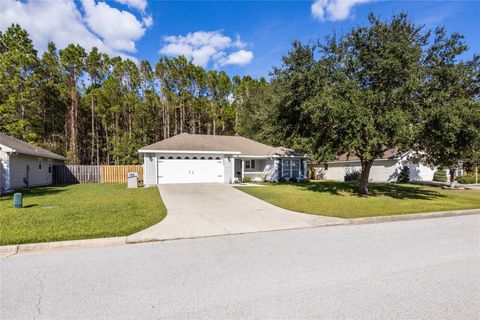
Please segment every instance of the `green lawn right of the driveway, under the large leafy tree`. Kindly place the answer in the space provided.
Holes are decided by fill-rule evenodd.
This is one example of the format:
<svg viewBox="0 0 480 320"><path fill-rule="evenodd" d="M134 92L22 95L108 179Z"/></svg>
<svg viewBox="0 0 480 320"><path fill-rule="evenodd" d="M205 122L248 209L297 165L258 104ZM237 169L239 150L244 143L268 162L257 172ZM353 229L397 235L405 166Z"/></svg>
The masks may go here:
<svg viewBox="0 0 480 320"><path fill-rule="evenodd" d="M356 194L356 183L332 181L237 189L288 210L340 218L480 208L479 190L451 191L410 184L370 183L371 195L367 197Z"/></svg>

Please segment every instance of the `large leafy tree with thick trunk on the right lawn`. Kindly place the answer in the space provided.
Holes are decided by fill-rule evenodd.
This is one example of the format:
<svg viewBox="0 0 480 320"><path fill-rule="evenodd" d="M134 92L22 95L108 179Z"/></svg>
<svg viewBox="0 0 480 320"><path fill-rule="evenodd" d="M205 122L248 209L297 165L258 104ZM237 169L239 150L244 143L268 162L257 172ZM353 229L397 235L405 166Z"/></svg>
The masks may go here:
<svg viewBox="0 0 480 320"><path fill-rule="evenodd" d="M374 160L390 148L451 166L478 135L477 59L457 62L465 50L457 34L438 29L429 39L401 13L387 21L370 14L367 26L316 45L295 41L273 79L285 139L321 161L357 157L361 194Z"/></svg>

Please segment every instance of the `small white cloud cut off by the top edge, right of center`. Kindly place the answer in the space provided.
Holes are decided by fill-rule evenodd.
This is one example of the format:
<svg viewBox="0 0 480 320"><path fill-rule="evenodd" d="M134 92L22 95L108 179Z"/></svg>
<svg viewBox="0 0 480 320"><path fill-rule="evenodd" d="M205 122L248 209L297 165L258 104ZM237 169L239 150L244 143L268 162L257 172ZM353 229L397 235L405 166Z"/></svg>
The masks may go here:
<svg viewBox="0 0 480 320"><path fill-rule="evenodd" d="M311 6L314 18L325 21L345 20L350 17L352 8L371 0L315 0Z"/></svg>

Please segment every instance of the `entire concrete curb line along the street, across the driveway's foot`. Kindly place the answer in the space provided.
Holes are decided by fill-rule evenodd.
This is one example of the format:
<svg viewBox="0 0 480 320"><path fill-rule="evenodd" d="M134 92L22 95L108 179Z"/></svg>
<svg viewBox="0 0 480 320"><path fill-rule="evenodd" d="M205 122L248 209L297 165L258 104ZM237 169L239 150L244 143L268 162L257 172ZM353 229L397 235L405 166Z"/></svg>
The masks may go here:
<svg viewBox="0 0 480 320"><path fill-rule="evenodd" d="M346 219L347 220L346 223L330 223L330 224L327 223L320 226L311 226L311 227L293 228L293 229L309 229L309 228L319 228L319 227L329 227L329 226L348 226L348 225L356 225L356 224L432 219L432 218L455 217L455 216L463 216L463 215L471 215L471 214L480 214L480 209L425 212L425 213L414 213L414 214L382 216L382 217ZM293 229L279 229L279 230L270 230L270 231L283 231L283 230L293 230ZM0 257L6 258L16 254L38 253L38 252L62 250L62 249L65 250L65 249L99 248L99 247L110 247L110 246L135 244L135 243L138 244L138 243L146 243L146 242L159 242L159 241L170 241L170 240L181 240L181 239L197 239L197 238L207 238L207 237L215 237L215 236L228 236L228 235L261 233L261 232L270 232L270 231L265 230L265 231L247 232L247 233L232 233L232 234L225 234L225 235L211 235L211 236L198 236L198 237L185 237L185 238L172 238L172 239L144 239L143 241L128 240L129 236L125 236L125 237L113 237L113 238L98 238L98 239L7 245L7 246L0 246Z"/></svg>

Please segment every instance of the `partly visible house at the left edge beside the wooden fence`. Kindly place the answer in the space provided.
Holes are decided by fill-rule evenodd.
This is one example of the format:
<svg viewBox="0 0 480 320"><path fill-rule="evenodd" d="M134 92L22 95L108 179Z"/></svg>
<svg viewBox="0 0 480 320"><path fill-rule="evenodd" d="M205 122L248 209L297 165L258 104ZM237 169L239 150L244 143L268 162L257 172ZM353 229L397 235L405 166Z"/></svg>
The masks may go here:
<svg viewBox="0 0 480 320"><path fill-rule="evenodd" d="M52 184L52 165L66 159L58 154L0 133L0 193Z"/></svg>

